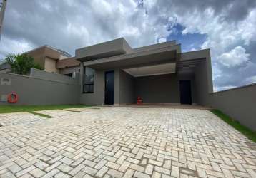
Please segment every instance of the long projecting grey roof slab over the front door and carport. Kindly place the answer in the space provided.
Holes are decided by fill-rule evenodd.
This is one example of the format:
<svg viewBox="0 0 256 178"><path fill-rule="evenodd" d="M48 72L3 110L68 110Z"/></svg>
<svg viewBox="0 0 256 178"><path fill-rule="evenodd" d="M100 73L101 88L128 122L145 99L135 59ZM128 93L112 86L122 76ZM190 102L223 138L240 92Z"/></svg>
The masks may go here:
<svg viewBox="0 0 256 178"><path fill-rule="evenodd" d="M139 66L153 66L161 63L176 63L180 53L180 45L167 48L157 48L137 53L125 53L109 58L99 58L84 62L84 66L96 70L108 70L113 68L134 68ZM83 61L82 58L76 58Z"/></svg>

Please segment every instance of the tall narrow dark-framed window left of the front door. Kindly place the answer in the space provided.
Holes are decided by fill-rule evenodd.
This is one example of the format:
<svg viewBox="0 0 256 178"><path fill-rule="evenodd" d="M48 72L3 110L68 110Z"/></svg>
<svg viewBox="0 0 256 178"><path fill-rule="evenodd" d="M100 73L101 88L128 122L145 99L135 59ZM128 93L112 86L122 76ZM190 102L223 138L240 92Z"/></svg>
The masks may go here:
<svg viewBox="0 0 256 178"><path fill-rule="evenodd" d="M94 93L94 73L94 69L84 67L84 93Z"/></svg>

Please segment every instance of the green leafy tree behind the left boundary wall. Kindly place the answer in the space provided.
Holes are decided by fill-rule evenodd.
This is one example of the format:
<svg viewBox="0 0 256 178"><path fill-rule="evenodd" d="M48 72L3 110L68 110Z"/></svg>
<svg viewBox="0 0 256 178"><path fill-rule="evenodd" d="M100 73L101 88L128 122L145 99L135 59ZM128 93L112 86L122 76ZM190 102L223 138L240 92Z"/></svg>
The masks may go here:
<svg viewBox="0 0 256 178"><path fill-rule="evenodd" d="M26 53L23 54L9 54L4 59L6 63L9 63L11 66L12 73L21 74L21 75L28 75L30 72L30 68L38 68L44 70L39 63L34 62L34 58L27 55Z"/></svg>

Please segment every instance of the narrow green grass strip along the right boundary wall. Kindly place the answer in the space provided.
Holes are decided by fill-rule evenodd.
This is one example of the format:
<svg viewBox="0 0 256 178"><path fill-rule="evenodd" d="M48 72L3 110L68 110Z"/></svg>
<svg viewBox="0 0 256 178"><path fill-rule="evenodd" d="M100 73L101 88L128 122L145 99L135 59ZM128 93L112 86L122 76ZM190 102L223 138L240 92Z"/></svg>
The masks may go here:
<svg viewBox="0 0 256 178"><path fill-rule="evenodd" d="M241 132L243 135L248 137L250 140L252 140L252 142L256 142L256 132L253 132L248 127L245 127L244 125L241 125L240 122L238 122L236 120L233 120L231 117L225 115L220 110L210 110L210 112L212 112L215 115L217 115L218 117L220 117L220 119L224 120L229 125L234 127L236 130Z"/></svg>

